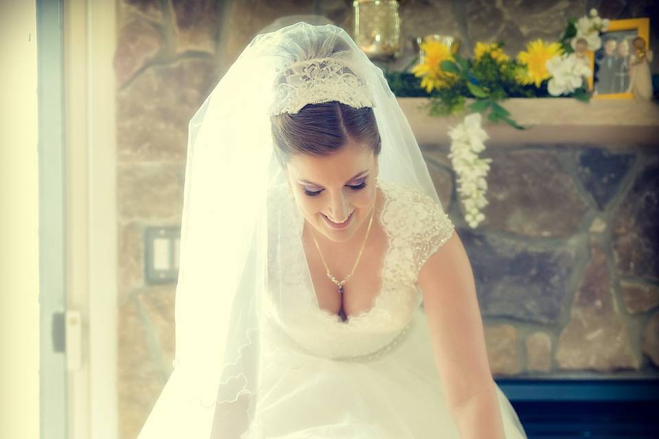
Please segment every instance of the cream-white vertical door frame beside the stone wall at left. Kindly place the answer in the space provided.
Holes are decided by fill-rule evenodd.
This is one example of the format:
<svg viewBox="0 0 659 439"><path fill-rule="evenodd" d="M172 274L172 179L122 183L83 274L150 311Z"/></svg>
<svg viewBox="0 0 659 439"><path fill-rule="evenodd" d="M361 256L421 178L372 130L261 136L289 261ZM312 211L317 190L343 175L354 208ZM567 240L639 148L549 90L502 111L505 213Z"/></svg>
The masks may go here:
<svg viewBox="0 0 659 439"><path fill-rule="evenodd" d="M117 2L63 5L68 438L117 439Z"/></svg>

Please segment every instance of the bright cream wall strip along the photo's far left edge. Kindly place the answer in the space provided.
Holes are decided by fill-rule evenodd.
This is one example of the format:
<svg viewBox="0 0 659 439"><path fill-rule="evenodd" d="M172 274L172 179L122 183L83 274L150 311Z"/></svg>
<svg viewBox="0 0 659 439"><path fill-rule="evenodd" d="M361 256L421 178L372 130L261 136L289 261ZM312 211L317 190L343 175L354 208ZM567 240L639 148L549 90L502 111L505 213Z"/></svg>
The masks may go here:
<svg viewBox="0 0 659 439"><path fill-rule="evenodd" d="M0 438L39 438L35 1L0 1Z"/></svg>

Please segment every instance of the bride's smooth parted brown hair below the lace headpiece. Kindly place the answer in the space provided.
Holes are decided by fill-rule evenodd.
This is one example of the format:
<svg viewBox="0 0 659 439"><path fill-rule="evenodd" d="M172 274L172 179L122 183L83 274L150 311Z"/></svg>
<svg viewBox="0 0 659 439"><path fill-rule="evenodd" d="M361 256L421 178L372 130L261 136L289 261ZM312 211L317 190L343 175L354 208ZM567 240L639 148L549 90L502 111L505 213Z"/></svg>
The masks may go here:
<svg viewBox="0 0 659 439"><path fill-rule="evenodd" d="M340 102L308 104L297 114L270 116L275 152L286 165L292 154L325 156L348 141L369 147L377 156L382 141L373 108L354 108Z"/></svg>

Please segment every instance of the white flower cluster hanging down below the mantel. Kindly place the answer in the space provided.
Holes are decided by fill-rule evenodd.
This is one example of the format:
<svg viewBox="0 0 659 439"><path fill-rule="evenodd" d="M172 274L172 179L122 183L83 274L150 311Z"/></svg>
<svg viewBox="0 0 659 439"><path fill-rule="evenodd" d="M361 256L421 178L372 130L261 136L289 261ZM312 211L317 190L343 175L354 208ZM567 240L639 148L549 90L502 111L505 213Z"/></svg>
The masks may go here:
<svg viewBox="0 0 659 439"><path fill-rule="evenodd" d="M462 123L448 132L452 140L448 157L458 174L458 193L465 207L465 219L472 228L485 219L479 209L487 205L485 178L489 163L492 162L491 158L478 158L478 152L485 150L483 141L489 137L481 121L481 113L475 112L467 115Z"/></svg>

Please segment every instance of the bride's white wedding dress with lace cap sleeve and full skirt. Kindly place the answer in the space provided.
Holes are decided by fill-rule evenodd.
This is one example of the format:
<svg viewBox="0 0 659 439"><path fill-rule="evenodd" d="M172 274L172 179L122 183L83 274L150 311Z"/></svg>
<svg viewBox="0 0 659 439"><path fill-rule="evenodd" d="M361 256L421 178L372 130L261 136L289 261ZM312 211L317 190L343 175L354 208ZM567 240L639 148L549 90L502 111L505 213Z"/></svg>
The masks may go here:
<svg viewBox="0 0 659 439"><path fill-rule="evenodd" d="M264 302L260 387L253 423L242 439L460 437L415 285L421 265L454 226L428 196L394 182L380 187L385 204L376 218L389 248L382 289L369 311L343 322L321 309L303 254L278 261L285 268L281 274L268 274L270 285L299 300L289 309ZM284 191L273 197L270 202L287 198ZM279 209L268 221L284 222L274 229L288 230L290 239L301 234L297 209ZM526 438L507 397L498 386L496 392L506 438Z"/></svg>

